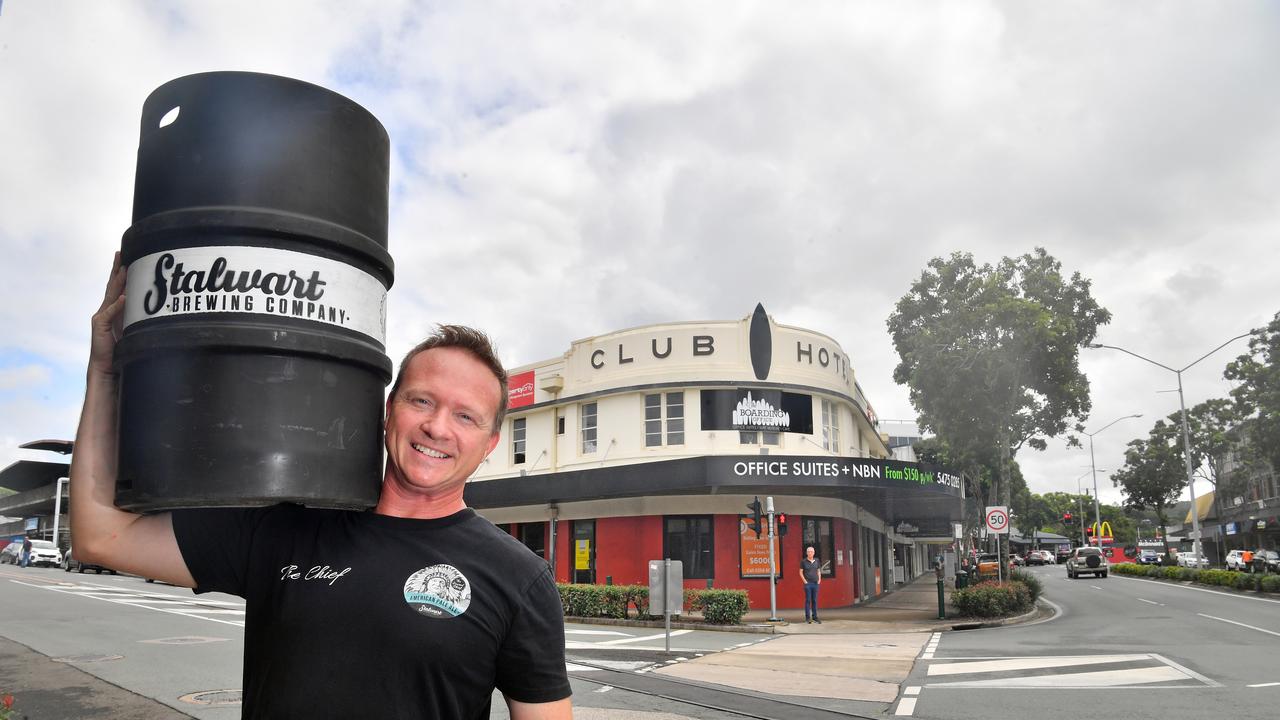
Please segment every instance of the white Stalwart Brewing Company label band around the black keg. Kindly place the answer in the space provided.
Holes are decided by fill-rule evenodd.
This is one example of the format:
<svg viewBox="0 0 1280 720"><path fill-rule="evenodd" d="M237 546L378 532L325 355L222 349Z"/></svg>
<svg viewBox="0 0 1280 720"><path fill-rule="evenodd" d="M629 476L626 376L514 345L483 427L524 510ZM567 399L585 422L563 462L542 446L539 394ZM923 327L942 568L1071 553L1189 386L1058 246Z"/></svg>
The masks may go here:
<svg viewBox="0 0 1280 720"><path fill-rule="evenodd" d="M180 247L129 264L124 327L197 313L337 325L387 341L387 288L338 260L271 247Z"/></svg>

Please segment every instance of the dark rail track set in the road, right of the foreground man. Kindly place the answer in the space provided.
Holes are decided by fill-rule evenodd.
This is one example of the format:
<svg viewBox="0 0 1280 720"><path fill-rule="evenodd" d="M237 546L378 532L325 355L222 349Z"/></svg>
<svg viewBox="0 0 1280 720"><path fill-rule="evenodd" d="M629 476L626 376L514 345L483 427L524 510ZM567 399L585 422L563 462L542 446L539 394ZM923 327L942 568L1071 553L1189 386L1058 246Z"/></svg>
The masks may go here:
<svg viewBox="0 0 1280 720"><path fill-rule="evenodd" d="M620 670L617 667L595 665L576 657L570 657L568 661L573 665L591 669L590 673L573 673L571 675L579 680L678 702L681 705L716 710L739 717L756 717L759 720L838 720L859 717L873 720L870 715L859 715L856 712L778 700L777 697L733 688L712 687L678 678L654 675L648 671Z"/></svg>

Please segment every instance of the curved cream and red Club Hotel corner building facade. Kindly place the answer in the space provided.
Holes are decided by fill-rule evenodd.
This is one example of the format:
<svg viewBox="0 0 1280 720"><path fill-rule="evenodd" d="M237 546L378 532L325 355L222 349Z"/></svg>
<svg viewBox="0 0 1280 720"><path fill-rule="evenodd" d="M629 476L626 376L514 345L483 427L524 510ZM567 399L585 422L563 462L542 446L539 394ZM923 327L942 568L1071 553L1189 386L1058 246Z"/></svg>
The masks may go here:
<svg viewBox="0 0 1280 720"><path fill-rule="evenodd" d="M558 582L648 584L669 557L686 587L768 607L769 543L748 506L772 497L778 607L804 602L808 546L820 606L847 606L925 571L961 518L957 475L891 459L850 355L760 306L576 341L512 370L509 400L466 501Z"/></svg>

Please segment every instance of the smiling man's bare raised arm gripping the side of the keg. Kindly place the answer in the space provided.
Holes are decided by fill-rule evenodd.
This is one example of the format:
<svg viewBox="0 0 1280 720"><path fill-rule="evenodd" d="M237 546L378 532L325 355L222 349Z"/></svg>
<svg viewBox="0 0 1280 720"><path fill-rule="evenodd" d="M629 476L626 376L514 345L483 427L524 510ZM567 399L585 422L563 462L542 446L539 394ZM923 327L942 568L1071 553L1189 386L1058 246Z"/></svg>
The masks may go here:
<svg viewBox="0 0 1280 720"><path fill-rule="evenodd" d="M124 269L115 254L102 305L91 323L84 407L70 470L72 544L77 559L182 587L196 587L168 512L115 507L119 375L113 363L124 320Z"/></svg>

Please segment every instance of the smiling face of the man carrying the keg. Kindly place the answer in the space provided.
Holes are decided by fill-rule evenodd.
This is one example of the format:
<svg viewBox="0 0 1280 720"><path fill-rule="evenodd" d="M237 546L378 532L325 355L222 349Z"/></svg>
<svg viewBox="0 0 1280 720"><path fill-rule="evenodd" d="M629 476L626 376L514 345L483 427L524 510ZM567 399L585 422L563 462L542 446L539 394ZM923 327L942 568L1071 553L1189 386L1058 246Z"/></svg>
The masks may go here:
<svg viewBox="0 0 1280 720"><path fill-rule="evenodd" d="M431 500L457 492L498 445L502 387L466 350L425 350L387 401L387 482Z"/></svg>

